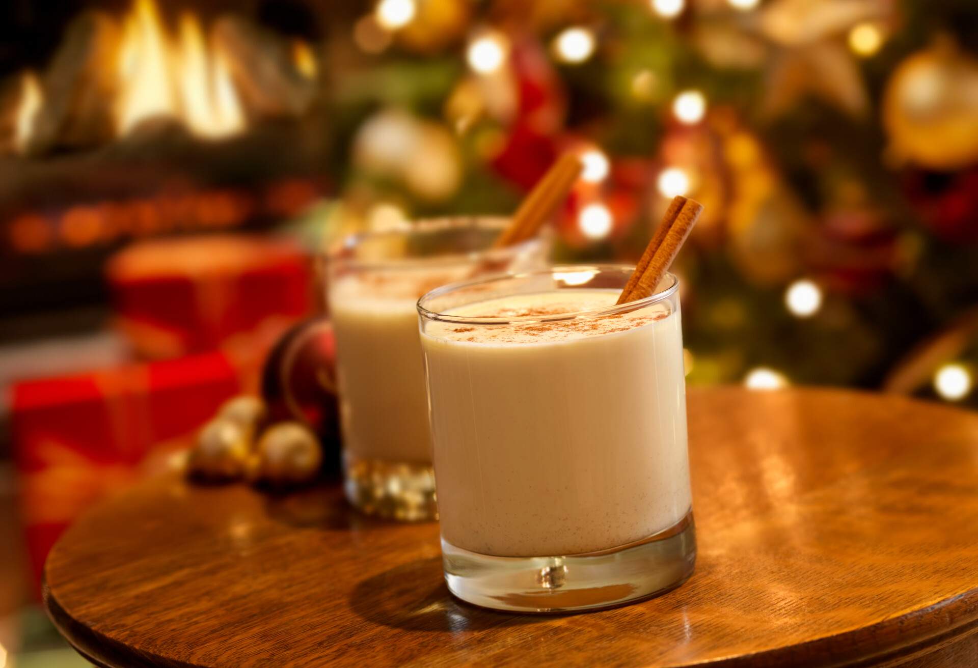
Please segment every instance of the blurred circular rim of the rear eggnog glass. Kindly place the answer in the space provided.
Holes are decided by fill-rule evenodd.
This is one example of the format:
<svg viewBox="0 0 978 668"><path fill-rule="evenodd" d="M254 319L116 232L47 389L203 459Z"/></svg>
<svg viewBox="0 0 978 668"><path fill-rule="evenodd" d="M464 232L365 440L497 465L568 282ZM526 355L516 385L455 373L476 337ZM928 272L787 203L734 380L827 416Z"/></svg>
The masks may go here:
<svg viewBox="0 0 978 668"><path fill-rule="evenodd" d="M382 239L384 237L405 237L412 234L432 234L451 230L468 229L498 229L502 231L510 221L511 216L471 214L471 215L447 215L422 218L409 223L410 227L398 230L364 230L354 232L344 236L334 245L328 248L323 257L328 262L342 262L344 266L353 270L385 270L385 269L427 269L436 267L451 267L462 264L471 264L479 260L493 259L509 256L524 248L538 244L546 238L547 232L542 231L540 235L528 239L519 244L507 245L495 248L492 245L484 248L468 250L467 252L448 252L418 257L390 257L386 259L358 260L356 258L343 257L342 252L362 244L364 241L372 239Z"/></svg>

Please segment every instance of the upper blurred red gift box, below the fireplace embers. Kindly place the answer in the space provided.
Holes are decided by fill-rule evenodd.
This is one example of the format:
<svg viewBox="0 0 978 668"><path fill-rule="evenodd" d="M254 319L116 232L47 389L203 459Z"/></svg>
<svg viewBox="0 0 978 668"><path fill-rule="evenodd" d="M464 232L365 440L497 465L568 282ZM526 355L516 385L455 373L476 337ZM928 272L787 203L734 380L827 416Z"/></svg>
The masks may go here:
<svg viewBox="0 0 978 668"><path fill-rule="evenodd" d="M288 241L222 235L131 245L106 274L122 333L140 356L164 359L282 331L310 310L309 264Z"/></svg>

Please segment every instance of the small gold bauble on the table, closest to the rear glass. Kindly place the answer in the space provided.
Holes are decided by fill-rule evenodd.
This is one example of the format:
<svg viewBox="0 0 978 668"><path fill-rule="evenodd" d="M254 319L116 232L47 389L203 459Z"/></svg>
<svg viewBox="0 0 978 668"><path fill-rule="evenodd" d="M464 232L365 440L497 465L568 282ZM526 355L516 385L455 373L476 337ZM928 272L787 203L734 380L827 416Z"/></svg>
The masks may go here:
<svg viewBox="0 0 978 668"><path fill-rule="evenodd" d="M323 450L316 435L300 423L273 424L258 440L257 477L274 485L316 477Z"/></svg>

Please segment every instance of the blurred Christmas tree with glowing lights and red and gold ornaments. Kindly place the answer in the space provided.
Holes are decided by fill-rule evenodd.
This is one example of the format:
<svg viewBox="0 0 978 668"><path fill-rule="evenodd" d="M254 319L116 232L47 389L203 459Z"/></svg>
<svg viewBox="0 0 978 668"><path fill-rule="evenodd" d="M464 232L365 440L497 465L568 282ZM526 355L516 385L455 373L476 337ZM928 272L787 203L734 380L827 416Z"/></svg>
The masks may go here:
<svg viewBox="0 0 978 668"><path fill-rule="evenodd" d="M577 150L558 260L634 261L672 196L706 206L676 267L690 383L978 405L976 23L965 0L382 0L333 36L330 230L506 213Z"/></svg>

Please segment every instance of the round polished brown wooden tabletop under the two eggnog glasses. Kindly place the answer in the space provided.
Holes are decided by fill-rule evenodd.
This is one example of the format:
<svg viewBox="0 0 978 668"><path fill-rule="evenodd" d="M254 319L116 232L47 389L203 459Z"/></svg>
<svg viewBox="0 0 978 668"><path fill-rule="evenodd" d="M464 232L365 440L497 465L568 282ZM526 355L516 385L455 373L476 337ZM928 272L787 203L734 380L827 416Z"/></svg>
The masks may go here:
<svg viewBox="0 0 978 668"><path fill-rule="evenodd" d="M978 415L692 390L689 450L696 571L633 605L483 610L446 590L436 523L175 475L75 523L45 600L107 666L978 665Z"/></svg>

